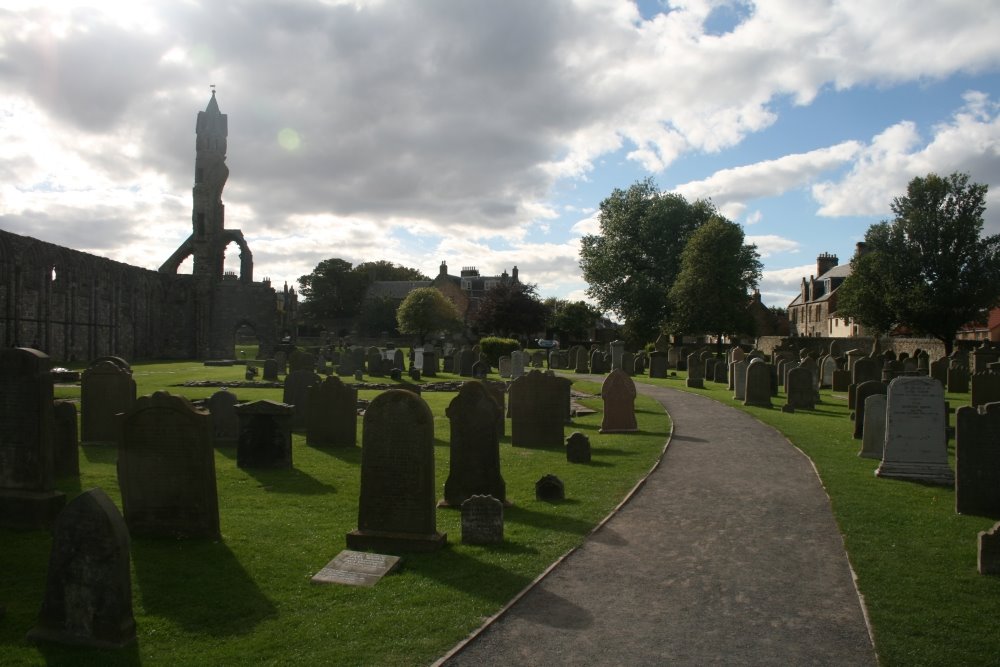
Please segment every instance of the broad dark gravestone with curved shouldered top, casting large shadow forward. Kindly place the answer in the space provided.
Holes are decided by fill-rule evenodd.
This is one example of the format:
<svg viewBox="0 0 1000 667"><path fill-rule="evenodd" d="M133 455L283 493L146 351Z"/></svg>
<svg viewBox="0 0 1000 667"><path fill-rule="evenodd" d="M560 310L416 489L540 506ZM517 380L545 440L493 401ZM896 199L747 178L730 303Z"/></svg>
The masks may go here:
<svg viewBox="0 0 1000 667"><path fill-rule="evenodd" d="M212 417L183 396L142 396L122 418L118 486L132 536L219 539Z"/></svg>

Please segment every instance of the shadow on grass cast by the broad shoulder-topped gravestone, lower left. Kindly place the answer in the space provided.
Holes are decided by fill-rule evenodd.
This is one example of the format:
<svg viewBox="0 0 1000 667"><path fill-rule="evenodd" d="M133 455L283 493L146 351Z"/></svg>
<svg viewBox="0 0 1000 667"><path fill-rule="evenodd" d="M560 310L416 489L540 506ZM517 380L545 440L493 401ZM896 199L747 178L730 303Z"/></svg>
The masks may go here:
<svg viewBox="0 0 1000 667"><path fill-rule="evenodd" d="M132 540L137 600L146 614L213 637L245 635L277 616L223 542Z"/></svg>

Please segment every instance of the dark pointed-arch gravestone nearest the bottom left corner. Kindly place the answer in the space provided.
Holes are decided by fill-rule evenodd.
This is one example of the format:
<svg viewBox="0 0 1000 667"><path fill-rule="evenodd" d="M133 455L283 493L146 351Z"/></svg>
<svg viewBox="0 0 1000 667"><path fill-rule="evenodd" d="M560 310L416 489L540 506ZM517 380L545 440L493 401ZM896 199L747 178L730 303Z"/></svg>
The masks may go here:
<svg viewBox="0 0 1000 667"><path fill-rule="evenodd" d="M135 641L128 529L101 489L81 493L56 520L45 600L28 638L96 648Z"/></svg>

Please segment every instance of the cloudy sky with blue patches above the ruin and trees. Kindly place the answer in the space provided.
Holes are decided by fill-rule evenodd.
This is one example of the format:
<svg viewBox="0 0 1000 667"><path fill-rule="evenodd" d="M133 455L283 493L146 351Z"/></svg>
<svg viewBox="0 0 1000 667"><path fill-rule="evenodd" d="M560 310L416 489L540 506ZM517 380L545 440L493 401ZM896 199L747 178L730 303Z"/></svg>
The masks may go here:
<svg viewBox="0 0 1000 667"><path fill-rule="evenodd" d="M159 268L214 86L226 227L279 289L339 257L587 299L580 238L652 177L784 307L915 176L989 185L1000 233L998 35L989 0L4 0L0 229Z"/></svg>

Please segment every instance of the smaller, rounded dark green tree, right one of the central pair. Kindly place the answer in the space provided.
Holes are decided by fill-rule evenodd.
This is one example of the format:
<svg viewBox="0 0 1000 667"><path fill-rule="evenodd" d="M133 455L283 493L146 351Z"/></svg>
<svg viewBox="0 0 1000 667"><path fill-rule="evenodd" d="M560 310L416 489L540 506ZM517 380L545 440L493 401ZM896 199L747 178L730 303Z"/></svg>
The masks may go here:
<svg viewBox="0 0 1000 667"><path fill-rule="evenodd" d="M744 243L743 228L712 218L691 234L681 253L681 269L667 295L670 327L715 335L718 353L726 334L753 333L747 306L762 268L757 246Z"/></svg>

